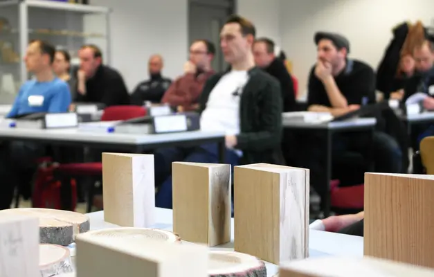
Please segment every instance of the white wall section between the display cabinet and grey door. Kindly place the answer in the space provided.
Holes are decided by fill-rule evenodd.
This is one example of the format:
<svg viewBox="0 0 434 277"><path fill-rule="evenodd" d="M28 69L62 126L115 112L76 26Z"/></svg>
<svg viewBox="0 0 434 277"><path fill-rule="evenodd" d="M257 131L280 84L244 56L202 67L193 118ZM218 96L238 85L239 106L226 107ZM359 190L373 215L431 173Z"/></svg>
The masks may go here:
<svg viewBox="0 0 434 277"><path fill-rule="evenodd" d="M147 60L160 53L164 75L176 77L188 53L187 0L91 0L112 8L111 65L122 73L129 91L147 79Z"/></svg>

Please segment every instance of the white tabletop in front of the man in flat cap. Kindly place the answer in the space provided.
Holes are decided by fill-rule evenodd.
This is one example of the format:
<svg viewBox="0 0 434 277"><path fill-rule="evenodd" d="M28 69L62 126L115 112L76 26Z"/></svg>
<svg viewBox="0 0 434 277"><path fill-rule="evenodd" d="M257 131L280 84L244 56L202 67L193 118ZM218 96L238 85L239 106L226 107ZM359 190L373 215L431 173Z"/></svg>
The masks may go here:
<svg viewBox="0 0 434 277"><path fill-rule="evenodd" d="M297 127L303 129L347 129L351 127L372 127L377 124L376 118L354 118L343 121L334 121L326 123L303 123L300 121L291 120L291 118L283 119L283 127Z"/></svg>

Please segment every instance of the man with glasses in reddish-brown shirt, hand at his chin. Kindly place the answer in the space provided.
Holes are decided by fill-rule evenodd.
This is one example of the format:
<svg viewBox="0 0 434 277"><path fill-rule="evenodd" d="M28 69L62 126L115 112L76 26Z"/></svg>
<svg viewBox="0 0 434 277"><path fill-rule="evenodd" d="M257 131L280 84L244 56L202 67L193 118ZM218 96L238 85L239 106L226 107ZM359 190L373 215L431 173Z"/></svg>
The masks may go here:
<svg viewBox="0 0 434 277"><path fill-rule="evenodd" d="M215 73L211 68L214 55L215 46L212 42L205 39L193 42L190 46L190 60L184 65L184 75L172 83L161 102L168 103L179 111L196 110L206 80Z"/></svg>

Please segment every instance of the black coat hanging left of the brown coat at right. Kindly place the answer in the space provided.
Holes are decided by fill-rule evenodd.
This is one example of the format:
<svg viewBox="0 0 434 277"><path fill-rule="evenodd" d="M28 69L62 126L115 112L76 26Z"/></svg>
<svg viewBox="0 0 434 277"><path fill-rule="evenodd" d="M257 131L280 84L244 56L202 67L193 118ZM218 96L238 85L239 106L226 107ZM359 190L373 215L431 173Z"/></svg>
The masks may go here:
<svg viewBox="0 0 434 277"><path fill-rule="evenodd" d="M404 46L407 34L408 24L406 22L393 29L393 39L377 69L377 89L383 93L392 91L393 80L399 66L401 48Z"/></svg>

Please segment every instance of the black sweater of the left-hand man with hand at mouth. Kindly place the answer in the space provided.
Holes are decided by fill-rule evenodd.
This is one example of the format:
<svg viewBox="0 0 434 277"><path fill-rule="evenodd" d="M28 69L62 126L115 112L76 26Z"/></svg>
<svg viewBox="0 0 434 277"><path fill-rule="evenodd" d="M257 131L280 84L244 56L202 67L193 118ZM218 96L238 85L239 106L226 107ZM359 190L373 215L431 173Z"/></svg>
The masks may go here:
<svg viewBox="0 0 434 277"><path fill-rule="evenodd" d="M106 107L129 105L129 93L120 73L101 65L95 75L86 81L86 94L77 93L75 101L98 102Z"/></svg>

